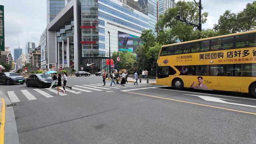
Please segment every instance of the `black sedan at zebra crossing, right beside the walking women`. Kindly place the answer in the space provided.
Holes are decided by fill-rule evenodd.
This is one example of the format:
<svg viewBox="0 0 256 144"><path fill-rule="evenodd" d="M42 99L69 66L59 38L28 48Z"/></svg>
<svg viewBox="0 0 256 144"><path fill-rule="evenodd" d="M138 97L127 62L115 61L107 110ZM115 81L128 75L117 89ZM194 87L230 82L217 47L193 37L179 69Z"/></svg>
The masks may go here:
<svg viewBox="0 0 256 144"><path fill-rule="evenodd" d="M53 78L48 74L32 74L26 80L26 86L37 86L39 88L50 87ZM57 86L56 83L54 87Z"/></svg>

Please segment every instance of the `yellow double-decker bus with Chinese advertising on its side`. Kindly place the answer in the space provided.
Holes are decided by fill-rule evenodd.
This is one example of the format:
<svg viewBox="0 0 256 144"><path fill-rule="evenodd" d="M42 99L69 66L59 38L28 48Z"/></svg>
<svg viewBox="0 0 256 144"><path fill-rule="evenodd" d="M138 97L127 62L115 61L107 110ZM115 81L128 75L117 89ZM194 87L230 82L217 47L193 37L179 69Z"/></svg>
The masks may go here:
<svg viewBox="0 0 256 144"><path fill-rule="evenodd" d="M256 97L256 30L162 46L156 83Z"/></svg>

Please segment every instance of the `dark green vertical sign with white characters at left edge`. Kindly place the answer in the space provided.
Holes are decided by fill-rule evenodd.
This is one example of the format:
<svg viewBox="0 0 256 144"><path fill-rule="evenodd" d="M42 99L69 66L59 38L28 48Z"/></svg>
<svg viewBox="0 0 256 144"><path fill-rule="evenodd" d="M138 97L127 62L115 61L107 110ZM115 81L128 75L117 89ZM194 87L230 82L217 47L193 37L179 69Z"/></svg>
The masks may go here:
<svg viewBox="0 0 256 144"><path fill-rule="evenodd" d="M4 6L0 5L0 50L4 51Z"/></svg>

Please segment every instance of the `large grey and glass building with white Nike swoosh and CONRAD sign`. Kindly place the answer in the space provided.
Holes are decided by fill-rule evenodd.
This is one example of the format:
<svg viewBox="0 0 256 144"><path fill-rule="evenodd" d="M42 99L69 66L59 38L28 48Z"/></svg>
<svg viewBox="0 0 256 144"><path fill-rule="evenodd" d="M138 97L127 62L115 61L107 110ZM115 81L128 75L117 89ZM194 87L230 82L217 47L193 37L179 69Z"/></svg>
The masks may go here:
<svg viewBox="0 0 256 144"><path fill-rule="evenodd" d="M109 55L134 52L149 21L149 16L117 0L71 0L47 25L47 66L108 70Z"/></svg>

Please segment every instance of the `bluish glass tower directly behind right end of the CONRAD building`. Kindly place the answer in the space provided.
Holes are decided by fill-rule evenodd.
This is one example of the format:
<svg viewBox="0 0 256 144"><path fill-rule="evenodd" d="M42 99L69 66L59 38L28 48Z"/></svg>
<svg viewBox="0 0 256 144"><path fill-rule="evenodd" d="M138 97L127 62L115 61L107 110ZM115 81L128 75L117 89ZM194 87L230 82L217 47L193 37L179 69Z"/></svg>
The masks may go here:
<svg viewBox="0 0 256 144"><path fill-rule="evenodd" d="M156 0L138 0L138 4L140 12L149 16L149 29L155 32L157 22Z"/></svg>

